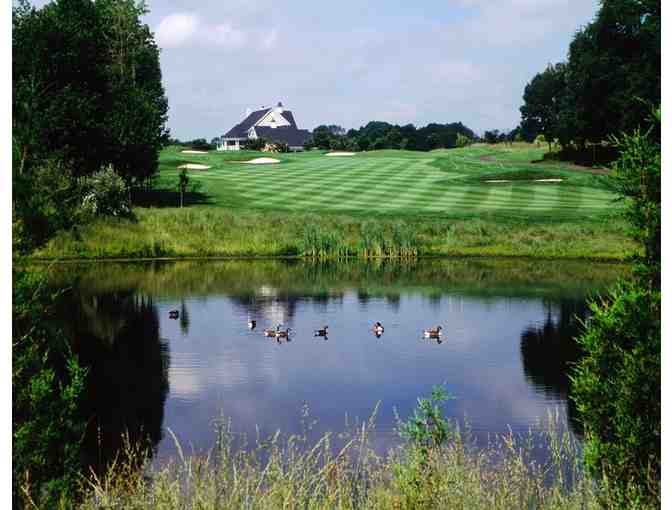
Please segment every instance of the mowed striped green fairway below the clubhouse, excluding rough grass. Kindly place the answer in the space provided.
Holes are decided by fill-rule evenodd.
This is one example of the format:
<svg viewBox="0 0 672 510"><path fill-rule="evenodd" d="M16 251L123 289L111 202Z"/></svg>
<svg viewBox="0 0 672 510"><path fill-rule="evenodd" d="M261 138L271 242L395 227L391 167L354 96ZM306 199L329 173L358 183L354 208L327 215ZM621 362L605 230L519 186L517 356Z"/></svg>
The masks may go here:
<svg viewBox="0 0 672 510"><path fill-rule="evenodd" d="M161 155L159 187L175 189L177 167L190 170L208 203L229 209L346 213L351 215L508 217L566 221L592 220L613 211L614 195L605 175L557 163L535 163L544 149L487 146L428 153L382 150L355 156L325 156L312 151L269 155L253 152ZM281 159L275 165L236 162L259 156ZM485 156L489 160L482 160ZM526 173L533 171L527 176ZM525 180L516 179L520 173ZM562 182L533 179L560 178ZM516 179L488 183L487 180Z"/></svg>

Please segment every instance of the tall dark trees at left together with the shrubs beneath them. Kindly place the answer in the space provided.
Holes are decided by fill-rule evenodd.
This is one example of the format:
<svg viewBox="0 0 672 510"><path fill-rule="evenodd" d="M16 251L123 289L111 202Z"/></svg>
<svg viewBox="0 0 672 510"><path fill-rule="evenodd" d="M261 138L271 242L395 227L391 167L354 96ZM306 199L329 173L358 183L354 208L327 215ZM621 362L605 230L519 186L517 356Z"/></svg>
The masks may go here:
<svg viewBox="0 0 672 510"><path fill-rule="evenodd" d="M13 6L15 246L109 211L97 183L128 197L156 175L168 101L147 12L136 0Z"/></svg>

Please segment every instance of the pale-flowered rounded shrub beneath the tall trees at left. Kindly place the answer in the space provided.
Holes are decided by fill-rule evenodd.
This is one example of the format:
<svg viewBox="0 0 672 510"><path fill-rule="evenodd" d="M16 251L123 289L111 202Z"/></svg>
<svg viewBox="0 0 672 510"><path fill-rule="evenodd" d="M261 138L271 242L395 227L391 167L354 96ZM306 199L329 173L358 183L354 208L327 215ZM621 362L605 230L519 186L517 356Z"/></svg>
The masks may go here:
<svg viewBox="0 0 672 510"><path fill-rule="evenodd" d="M87 177L82 184L82 211L91 216L131 216L126 183L112 165Z"/></svg>

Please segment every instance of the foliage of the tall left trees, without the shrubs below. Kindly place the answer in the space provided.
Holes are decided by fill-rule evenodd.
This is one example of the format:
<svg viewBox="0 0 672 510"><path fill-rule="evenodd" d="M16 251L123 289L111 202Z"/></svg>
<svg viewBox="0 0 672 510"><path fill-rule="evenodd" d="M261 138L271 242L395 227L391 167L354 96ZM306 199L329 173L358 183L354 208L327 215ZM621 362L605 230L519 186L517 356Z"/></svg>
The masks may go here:
<svg viewBox="0 0 672 510"><path fill-rule="evenodd" d="M13 134L20 173L45 158L73 177L111 163L142 182L167 139L159 50L135 0L13 8Z"/></svg>

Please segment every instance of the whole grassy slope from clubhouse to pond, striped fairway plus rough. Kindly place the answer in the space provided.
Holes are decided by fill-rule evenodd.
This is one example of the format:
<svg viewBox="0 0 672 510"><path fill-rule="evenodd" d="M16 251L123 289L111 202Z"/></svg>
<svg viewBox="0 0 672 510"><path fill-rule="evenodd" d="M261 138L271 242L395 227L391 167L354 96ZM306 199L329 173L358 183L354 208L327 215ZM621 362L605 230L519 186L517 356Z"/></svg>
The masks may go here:
<svg viewBox="0 0 672 510"><path fill-rule="evenodd" d="M421 255L511 255L618 259L633 246L616 219L607 176L535 163L544 149L475 146L429 153L382 150L351 157L322 152L241 160L253 152L161 155L157 191L136 207L137 222L101 220L63 233L38 257L300 255L306 226L355 254L364 230L413 233ZM175 208L178 165L199 193ZM530 179L562 178L560 183ZM510 183L485 183L506 178ZM522 178L522 180L520 179ZM371 227L373 226L373 227Z"/></svg>

